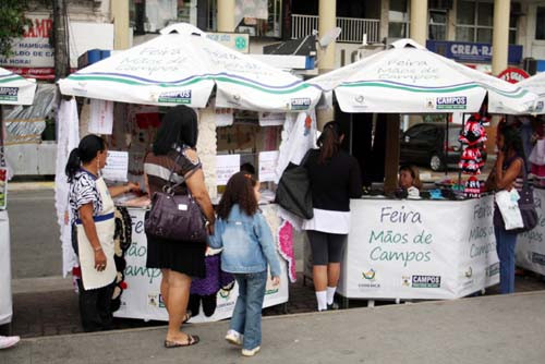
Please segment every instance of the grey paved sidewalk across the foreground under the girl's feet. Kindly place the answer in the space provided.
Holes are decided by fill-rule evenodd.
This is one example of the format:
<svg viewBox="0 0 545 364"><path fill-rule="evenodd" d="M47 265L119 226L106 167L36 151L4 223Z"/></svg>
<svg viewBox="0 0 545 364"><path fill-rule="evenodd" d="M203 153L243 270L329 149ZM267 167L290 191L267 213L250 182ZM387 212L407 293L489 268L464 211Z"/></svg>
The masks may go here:
<svg viewBox="0 0 545 364"><path fill-rule="evenodd" d="M0 364L247 363L226 321L191 325L191 348L162 348L165 328L25 339ZM543 363L545 291L266 317L255 363Z"/></svg>

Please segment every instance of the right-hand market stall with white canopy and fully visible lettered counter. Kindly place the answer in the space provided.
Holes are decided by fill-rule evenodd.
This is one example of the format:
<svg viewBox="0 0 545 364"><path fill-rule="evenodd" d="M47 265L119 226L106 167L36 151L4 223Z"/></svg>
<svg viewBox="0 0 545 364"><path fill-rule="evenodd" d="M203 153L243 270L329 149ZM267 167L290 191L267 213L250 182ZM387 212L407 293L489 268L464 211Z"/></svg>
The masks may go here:
<svg viewBox="0 0 545 364"><path fill-rule="evenodd" d="M492 113L524 113L535 100L525 89L431 52L411 39L310 83L325 93L334 92L340 109L351 113L477 113L485 96ZM474 122L483 133L480 122ZM395 149L399 121L392 125L389 146ZM486 138L481 134L479 139L482 144ZM479 143L471 146L474 156L479 156ZM399 157L386 157L390 163L386 183L396 185ZM476 168L471 173L479 174L483 161L474 158L472 162ZM339 281L344 298L456 299L499 281L491 196L467 199L463 190L438 191L424 201L383 196L354 199L351 211Z"/></svg>

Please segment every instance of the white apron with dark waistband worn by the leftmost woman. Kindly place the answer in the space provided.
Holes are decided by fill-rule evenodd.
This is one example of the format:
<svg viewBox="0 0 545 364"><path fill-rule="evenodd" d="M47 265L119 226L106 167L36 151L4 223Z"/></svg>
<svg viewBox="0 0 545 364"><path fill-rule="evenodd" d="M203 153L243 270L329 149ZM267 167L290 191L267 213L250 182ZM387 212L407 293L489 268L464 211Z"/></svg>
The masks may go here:
<svg viewBox="0 0 545 364"><path fill-rule="evenodd" d="M98 216L94 216L95 228L98 240L106 255L106 269L98 271L95 269L95 251L87 239L82 221L76 220L77 250L80 255L80 266L82 269L82 280L85 290L93 290L111 284L118 274L113 260L113 234L116 231L114 206L108 187L102 178L96 180L96 185L102 202L102 210Z"/></svg>

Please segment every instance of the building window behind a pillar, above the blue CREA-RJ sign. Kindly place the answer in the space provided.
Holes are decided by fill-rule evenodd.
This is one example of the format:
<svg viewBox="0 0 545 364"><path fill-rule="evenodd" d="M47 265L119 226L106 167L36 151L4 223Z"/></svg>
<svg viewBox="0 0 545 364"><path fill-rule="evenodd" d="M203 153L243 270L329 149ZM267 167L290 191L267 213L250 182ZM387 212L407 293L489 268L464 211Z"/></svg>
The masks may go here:
<svg viewBox="0 0 545 364"><path fill-rule="evenodd" d="M517 43L517 20L520 3L511 2L509 17L509 44ZM457 2L456 40L492 44L494 26L494 2L467 1Z"/></svg>

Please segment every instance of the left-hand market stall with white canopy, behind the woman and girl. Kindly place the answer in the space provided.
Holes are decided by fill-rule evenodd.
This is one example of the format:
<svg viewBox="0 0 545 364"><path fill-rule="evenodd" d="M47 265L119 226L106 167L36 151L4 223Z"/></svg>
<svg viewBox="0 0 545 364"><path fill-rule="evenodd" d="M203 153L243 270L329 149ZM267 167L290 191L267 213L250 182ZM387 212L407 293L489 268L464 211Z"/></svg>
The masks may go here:
<svg viewBox="0 0 545 364"><path fill-rule="evenodd" d="M169 26L157 38L80 70L60 81L59 85L64 95L90 99L83 105L80 114L82 134L87 130L110 135L110 149L125 154L123 158L129 165L125 173L128 171L133 181L142 178L142 161L149 150L165 107L183 104L197 108L197 150L213 199L244 162L257 167L262 182L272 181L276 165L286 154L279 148L280 141L286 137L281 125L295 121L305 124L310 120L310 130L311 124L315 124L311 110L320 95L319 90L298 77L230 50L187 24ZM109 104L111 101L114 102ZM106 111L108 109L111 111ZM97 114L109 117L99 117L101 124L97 125ZM105 124L106 132L96 132L97 126L104 130ZM131 208L131 203L122 204L130 208L133 242L125 254L125 289L121 307L114 315L166 319L158 293L160 272L145 268L144 209ZM279 239L281 221L276 205L261 207ZM69 243L63 244L70 251ZM279 254L286 256L281 248ZM64 262L71 260L66 258ZM288 274L287 264L283 266ZM64 265L65 272L71 269L70 264ZM265 306L288 301L288 276L281 280L280 287L269 288ZM221 288L216 296L215 313L199 314L192 321L231 315L237 288L231 291Z"/></svg>

